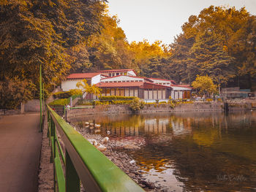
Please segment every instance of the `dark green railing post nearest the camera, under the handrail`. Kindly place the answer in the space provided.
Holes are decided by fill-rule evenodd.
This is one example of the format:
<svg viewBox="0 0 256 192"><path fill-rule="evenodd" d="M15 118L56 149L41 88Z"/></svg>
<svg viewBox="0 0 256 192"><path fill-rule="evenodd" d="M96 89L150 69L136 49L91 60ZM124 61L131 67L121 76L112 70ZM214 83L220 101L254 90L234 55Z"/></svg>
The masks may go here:
<svg viewBox="0 0 256 192"><path fill-rule="evenodd" d="M66 150L66 192L80 192L80 179Z"/></svg>

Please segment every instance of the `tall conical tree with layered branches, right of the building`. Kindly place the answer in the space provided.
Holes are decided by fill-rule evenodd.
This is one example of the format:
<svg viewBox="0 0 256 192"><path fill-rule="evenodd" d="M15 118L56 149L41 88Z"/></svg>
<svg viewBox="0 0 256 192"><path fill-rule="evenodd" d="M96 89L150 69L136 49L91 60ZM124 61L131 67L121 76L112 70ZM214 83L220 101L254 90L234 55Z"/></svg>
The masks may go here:
<svg viewBox="0 0 256 192"><path fill-rule="evenodd" d="M233 63L235 58L227 54L226 50L219 45L219 39L212 32L198 34L196 41L190 49L189 65L195 69L190 77L193 79L198 75L208 75L220 84L235 77Z"/></svg>

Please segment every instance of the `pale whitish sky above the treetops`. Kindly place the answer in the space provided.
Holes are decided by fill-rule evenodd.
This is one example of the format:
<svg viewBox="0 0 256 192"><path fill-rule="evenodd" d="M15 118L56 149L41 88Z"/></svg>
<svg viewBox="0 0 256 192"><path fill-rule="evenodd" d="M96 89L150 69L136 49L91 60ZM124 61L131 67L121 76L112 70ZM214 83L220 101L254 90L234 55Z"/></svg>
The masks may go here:
<svg viewBox="0 0 256 192"><path fill-rule="evenodd" d="M256 0L108 0L110 15L117 15L129 42L173 42L181 33L181 26L190 15L198 15L204 8L225 5L246 7L256 15Z"/></svg>

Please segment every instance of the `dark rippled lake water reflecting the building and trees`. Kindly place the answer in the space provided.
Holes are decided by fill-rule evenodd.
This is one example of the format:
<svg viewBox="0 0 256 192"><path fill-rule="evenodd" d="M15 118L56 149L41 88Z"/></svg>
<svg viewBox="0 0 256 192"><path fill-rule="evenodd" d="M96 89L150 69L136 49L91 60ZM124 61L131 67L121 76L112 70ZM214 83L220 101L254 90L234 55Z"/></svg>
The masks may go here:
<svg viewBox="0 0 256 192"><path fill-rule="evenodd" d="M127 150L147 180L168 191L256 191L256 112L87 116Z"/></svg>

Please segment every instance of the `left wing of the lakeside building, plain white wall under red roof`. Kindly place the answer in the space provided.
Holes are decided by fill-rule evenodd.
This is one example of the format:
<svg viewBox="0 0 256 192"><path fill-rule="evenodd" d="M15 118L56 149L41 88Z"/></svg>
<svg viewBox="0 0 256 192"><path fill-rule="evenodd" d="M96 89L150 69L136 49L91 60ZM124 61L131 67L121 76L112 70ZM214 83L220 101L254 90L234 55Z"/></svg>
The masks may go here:
<svg viewBox="0 0 256 192"><path fill-rule="evenodd" d="M69 74L66 80L61 81L62 91L69 91L70 89L77 88L76 85L81 80L86 79L89 85L94 85L100 82L103 78L106 78L105 75L97 73L73 73Z"/></svg>

